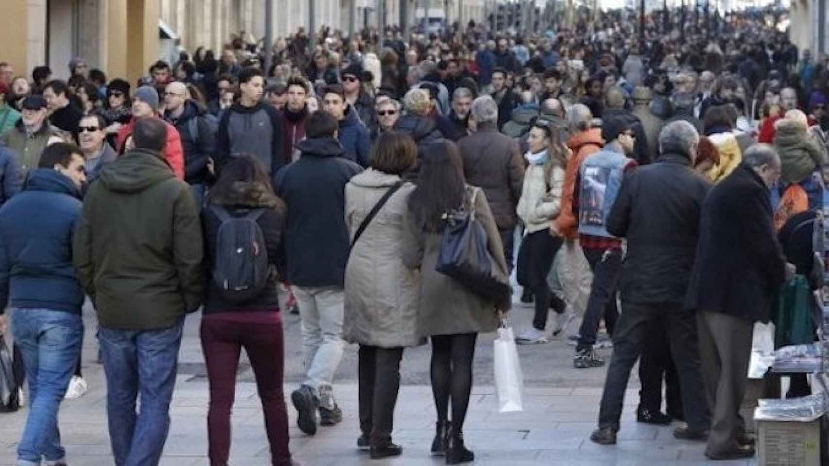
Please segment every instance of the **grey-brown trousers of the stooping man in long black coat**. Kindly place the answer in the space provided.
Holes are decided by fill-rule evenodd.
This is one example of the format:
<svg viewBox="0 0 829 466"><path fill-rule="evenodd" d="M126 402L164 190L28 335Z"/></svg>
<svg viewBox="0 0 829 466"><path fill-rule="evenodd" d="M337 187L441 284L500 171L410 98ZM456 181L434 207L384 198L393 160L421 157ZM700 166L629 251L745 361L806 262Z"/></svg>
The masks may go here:
<svg viewBox="0 0 829 466"><path fill-rule="evenodd" d="M711 432L707 454L721 454L739 447L745 420L739 414L748 379L754 322L719 312L699 311L700 356L705 378L705 397L711 406Z"/></svg>

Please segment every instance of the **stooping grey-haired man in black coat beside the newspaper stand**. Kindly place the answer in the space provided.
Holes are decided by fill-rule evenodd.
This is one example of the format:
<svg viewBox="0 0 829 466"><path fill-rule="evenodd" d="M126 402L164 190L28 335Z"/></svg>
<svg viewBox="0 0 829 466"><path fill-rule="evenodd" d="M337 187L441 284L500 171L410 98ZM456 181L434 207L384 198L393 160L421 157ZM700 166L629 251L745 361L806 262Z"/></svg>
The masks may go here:
<svg viewBox="0 0 829 466"><path fill-rule="evenodd" d="M769 187L780 157L758 144L702 205L700 246L686 309L696 311L711 431L705 456L754 456L739 416L749 370L754 322L768 322L778 287L793 276L774 234Z"/></svg>

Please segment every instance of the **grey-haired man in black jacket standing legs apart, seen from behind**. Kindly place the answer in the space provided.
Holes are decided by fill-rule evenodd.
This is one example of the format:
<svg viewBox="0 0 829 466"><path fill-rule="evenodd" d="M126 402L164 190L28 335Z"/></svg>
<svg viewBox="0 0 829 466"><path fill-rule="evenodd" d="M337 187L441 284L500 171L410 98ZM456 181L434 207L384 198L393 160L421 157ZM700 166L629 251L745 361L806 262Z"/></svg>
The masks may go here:
<svg viewBox="0 0 829 466"><path fill-rule="evenodd" d="M613 358L604 383L599 429L590 440L615 444L624 392L642 346L654 332L667 332L679 372L689 427L678 437L708 429L702 395L696 319L683 310L700 234L700 210L710 185L691 166L700 136L691 123L676 122L659 136L662 157L625 175L608 214L608 233L627 238L620 276L623 313L613 331Z"/></svg>

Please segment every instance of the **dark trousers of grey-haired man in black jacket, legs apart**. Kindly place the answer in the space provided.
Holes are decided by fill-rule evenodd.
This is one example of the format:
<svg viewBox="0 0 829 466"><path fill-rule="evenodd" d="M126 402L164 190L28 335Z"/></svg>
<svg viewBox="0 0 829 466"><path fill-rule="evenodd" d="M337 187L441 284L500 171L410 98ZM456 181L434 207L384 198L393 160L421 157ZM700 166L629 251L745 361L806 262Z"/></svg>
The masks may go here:
<svg viewBox="0 0 829 466"><path fill-rule="evenodd" d="M610 359L604 382L599 427L618 430L630 372L642 353L646 339L651 337L648 330L653 329L657 321L667 329L671 358L676 363L682 386L686 422L691 429L707 430L710 416L703 395L694 313L674 303L623 303L623 306L624 311L613 333L613 358Z"/></svg>

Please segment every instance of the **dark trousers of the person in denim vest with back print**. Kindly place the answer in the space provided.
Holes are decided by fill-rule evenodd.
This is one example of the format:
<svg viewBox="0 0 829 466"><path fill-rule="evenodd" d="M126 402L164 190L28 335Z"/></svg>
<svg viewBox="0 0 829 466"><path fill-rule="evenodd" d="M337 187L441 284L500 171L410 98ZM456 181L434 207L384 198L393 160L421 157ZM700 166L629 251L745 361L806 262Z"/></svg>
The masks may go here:
<svg viewBox="0 0 829 466"><path fill-rule="evenodd" d="M622 269L622 251L619 249L584 249L584 257L593 270L593 285L584 319L579 328L579 343L576 351L593 347L599 333L599 319L604 316L608 334L613 335L618 319L616 306L616 282Z"/></svg>

